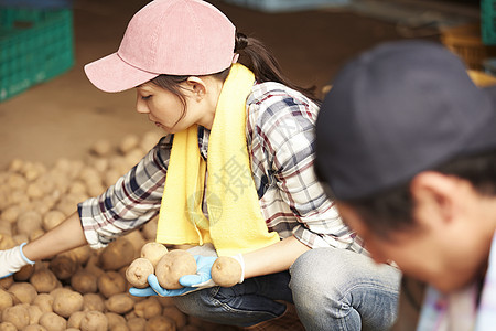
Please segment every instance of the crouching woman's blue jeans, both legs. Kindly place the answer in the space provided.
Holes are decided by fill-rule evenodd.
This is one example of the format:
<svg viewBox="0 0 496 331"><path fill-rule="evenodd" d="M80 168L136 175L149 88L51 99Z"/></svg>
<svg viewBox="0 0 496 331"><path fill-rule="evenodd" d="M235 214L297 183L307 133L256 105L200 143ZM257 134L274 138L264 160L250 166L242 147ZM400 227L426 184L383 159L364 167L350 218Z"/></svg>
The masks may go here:
<svg viewBox="0 0 496 331"><path fill-rule="evenodd" d="M316 248L289 271L213 287L174 301L183 312L220 324L254 325L295 305L306 330L388 330L398 310L398 269L345 249Z"/></svg>

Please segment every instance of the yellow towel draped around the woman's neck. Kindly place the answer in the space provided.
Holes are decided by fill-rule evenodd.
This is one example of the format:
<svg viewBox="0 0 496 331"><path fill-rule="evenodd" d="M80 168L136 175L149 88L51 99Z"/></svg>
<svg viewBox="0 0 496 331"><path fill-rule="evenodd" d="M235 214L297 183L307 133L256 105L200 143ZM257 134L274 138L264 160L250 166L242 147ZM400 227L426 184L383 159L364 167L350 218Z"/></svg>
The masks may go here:
<svg viewBox="0 0 496 331"><path fill-rule="evenodd" d="M246 98L254 82L248 68L233 65L217 103L207 164L200 156L196 126L174 135L157 242L213 243L219 256L279 242L261 215L246 143ZM209 221L202 213L206 167Z"/></svg>

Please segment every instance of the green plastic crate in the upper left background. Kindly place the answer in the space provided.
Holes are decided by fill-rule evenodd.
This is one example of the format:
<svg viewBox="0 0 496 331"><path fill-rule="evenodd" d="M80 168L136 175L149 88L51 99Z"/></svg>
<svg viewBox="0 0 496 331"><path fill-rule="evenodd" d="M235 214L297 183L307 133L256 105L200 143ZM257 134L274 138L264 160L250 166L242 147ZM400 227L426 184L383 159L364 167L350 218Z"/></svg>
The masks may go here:
<svg viewBox="0 0 496 331"><path fill-rule="evenodd" d="M0 102L73 65L72 9L0 7Z"/></svg>

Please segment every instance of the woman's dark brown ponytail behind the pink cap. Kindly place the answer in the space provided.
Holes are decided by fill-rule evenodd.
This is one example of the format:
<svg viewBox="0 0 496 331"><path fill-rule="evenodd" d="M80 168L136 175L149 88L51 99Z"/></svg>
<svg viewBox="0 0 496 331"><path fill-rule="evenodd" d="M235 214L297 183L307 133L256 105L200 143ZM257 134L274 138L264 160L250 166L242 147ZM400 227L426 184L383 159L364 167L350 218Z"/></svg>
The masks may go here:
<svg viewBox="0 0 496 331"><path fill-rule="evenodd" d="M289 81L281 72L276 57L257 39L236 33L235 53L240 55L240 62L245 64L255 74L259 83L277 82L290 88L293 88L313 102L320 103L315 96L315 86L310 88L300 87Z"/></svg>

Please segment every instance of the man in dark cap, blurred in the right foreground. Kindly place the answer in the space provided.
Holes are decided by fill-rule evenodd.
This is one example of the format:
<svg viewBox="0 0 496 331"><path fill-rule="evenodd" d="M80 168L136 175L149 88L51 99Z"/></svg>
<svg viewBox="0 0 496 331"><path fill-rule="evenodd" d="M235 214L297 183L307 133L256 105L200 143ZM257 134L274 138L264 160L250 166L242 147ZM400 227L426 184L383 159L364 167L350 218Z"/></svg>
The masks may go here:
<svg viewBox="0 0 496 331"><path fill-rule="evenodd" d="M496 88L440 44L376 46L333 82L315 167L375 260L430 286L418 330L494 330Z"/></svg>

